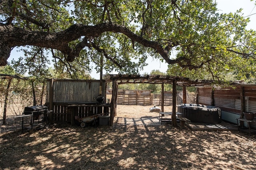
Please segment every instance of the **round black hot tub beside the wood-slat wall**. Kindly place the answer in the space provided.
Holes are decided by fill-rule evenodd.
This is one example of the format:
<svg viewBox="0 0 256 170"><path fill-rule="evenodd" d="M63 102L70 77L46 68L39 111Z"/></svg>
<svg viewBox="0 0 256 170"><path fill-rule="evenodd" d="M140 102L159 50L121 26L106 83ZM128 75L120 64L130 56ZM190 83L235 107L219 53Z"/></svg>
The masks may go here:
<svg viewBox="0 0 256 170"><path fill-rule="evenodd" d="M221 123L221 110L216 106L206 106L201 104L180 104L178 112L182 117L190 119L192 122L218 124Z"/></svg>

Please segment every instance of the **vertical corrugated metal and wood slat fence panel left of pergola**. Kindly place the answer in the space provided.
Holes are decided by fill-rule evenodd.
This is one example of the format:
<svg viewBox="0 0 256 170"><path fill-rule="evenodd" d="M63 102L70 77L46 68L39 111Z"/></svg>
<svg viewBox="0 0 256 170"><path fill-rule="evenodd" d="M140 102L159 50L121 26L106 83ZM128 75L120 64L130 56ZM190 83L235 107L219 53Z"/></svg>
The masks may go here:
<svg viewBox="0 0 256 170"><path fill-rule="evenodd" d="M100 86L100 80L49 79L47 81L46 105L52 110L51 121L73 123L74 113L80 117L102 113L102 106L96 104L96 98L100 92L103 96L106 95L104 80ZM71 107L71 105L76 106Z"/></svg>

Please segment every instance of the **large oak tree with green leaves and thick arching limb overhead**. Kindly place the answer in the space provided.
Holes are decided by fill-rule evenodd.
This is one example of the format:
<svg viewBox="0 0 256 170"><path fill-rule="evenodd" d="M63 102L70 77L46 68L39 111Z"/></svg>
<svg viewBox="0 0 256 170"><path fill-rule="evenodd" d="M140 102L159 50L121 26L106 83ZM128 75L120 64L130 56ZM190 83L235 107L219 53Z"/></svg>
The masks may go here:
<svg viewBox="0 0 256 170"><path fill-rule="evenodd" d="M214 0L1 0L0 65L28 45L50 51L55 66L90 70L102 56L109 72L137 73L152 56L169 74L250 77L256 34L248 21L241 10L219 14Z"/></svg>

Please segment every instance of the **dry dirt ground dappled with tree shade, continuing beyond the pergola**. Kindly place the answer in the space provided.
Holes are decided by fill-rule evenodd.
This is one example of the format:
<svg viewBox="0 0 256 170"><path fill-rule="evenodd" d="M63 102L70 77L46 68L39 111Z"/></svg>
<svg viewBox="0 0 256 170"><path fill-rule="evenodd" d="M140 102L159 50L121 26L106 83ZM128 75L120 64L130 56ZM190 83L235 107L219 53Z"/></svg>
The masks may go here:
<svg viewBox="0 0 256 170"><path fill-rule="evenodd" d="M113 127L62 123L0 133L0 169L256 170L255 135L161 125L150 107L118 105ZM158 123L120 123L124 118Z"/></svg>

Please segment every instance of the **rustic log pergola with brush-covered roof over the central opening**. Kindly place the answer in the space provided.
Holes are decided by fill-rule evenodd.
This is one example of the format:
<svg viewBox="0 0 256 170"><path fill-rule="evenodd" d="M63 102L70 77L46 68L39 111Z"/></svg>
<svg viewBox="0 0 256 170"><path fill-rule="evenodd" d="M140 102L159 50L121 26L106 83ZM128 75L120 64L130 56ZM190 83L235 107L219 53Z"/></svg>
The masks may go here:
<svg viewBox="0 0 256 170"><path fill-rule="evenodd" d="M148 83L148 84L162 84L162 92L164 91L164 84L172 84L172 125L177 126L176 122L176 86L183 86L183 102L186 103L186 86L211 86L214 84L213 80L190 80L189 78L168 76L168 75L125 75L125 74L110 74L104 75L106 82L112 82L112 99L110 103L110 122L112 126L114 117L116 116L116 104L118 95L118 84L126 83ZM184 101L185 100L185 101ZM162 95L162 101L164 96ZM164 110L164 102L161 104L162 111Z"/></svg>

